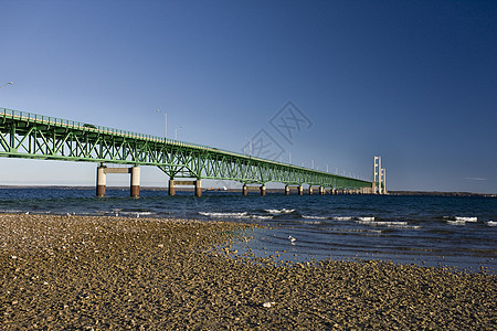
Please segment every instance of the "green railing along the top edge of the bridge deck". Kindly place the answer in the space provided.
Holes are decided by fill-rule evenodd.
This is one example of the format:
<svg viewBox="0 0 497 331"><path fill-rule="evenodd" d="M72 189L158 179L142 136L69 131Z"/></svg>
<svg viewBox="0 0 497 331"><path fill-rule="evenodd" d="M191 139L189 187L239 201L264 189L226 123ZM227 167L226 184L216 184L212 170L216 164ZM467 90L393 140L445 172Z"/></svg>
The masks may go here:
<svg viewBox="0 0 497 331"><path fill-rule="evenodd" d="M265 162L269 162L273 164L286 166L286 167L292 167L294 169L318 172L318 173L322 173L322 174L329 174L335 178L345 178L346 179L346 177L342 177L339 174L332 174L332 173L314 170L314 169L308 169L305 167L295 166L295 164L290 164L290 163L277 162L277 161L274 161L271 159L252 157L252 156L247 156L244 153L233 152L230 150L214 148L214 147L210 147L210 146L205 146L205 145L199 145L199 143L194 143L194 142L186 142L186 141L181 141L181 140L175 140L175 139L169 139L169 138L158 137L158 136L152 136L152 135L144 135L144 134L138 134L138 132L133 132L133 131L127 131L127 130L119 130L119 129L109 128L109 127L95 126L95 125L87 124L87 122L62 119L62 118L51 117L51 116L43 116L43 115L38 115L38 114L33 114L33 113L28 113L28 111L0 108L0 117L23 120L23 121L33 121L33 122L43 124L43 125L55 125L55 126L60 126L60 127L66 127L66 128L72 128L72 129L77 129L77 130L85 130L85 131L91 131L91 132L96 132L96 134L116 135L116 136L135 138L135 139L146 139L146 140L155 141L155 142L166 142L168 145L173 145L173 146L178 146L178 147L191 147L191 148L197 148L197 149L205 149L205 150L213 151L213 152L219 151L224 154L230 154L230 156L234 156L234 157L239 157L239 158L245 158L245 159L250 158L255 161L265 161ZM362 181L359 179L356 179L356 180Z"/></svg>

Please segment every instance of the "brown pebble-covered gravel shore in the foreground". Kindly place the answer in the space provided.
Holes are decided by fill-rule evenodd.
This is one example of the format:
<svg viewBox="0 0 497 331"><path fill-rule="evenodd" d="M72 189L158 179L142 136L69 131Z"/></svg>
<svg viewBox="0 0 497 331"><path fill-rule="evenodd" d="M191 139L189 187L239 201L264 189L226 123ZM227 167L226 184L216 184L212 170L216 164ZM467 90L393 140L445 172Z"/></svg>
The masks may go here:
<svg viewBox="0 0 497 331"><path fill-rule="evenodd" d="M497 330L485 273L240 256L230 241L251 228L226 222L0 215L0 227L1 330Z"/></svg>

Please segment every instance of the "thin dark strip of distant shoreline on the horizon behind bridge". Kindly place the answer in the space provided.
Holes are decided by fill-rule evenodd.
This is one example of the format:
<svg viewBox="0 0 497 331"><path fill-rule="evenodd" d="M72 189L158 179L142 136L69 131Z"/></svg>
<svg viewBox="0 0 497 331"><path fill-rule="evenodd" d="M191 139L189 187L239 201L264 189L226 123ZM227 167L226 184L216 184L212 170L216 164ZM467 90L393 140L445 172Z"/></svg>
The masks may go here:
<svg viewBox="0 0 497 331"><path fill-rule="evenodd" d="M95 186L71 186L71 185L0 185L0 189L53 189L53 190L95 190ZM107 190L129 190L129 186L107 186ZM168 191L169 188L140 186L142 191ZM177 191L193 192L193 188L177 188ZM225 191L204 188L204 192L241 192L241 189L228 189ZM267 189L267 193L285 193L284 189ZM389 195L415 195L415 196L483 196L497 197L497 193L472 193L472 192L443 192L443 191L389 191Z"/></svg>

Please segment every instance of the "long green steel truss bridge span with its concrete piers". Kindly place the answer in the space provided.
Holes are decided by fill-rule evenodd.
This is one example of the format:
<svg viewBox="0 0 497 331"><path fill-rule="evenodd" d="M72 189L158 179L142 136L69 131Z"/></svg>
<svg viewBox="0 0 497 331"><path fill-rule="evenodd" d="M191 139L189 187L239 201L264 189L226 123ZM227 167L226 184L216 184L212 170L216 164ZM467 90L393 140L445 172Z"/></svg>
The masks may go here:
<svg viewBox="0 0 497 331"><path fill-rule="evenodd" d="M286 184L285 193L303 185L319 193L370 193L372 183L294 164L236 153L209 146L177 141L91 124L0 108L0 157L101 163L97 195L105 195L107 173L130 173L131 196L139 195L139 166L158 167L169 177L169 193L192 185L200 196L201 180L234 180L243 194L266 183ZM106 164L130 164L110 168Z"/></svg>

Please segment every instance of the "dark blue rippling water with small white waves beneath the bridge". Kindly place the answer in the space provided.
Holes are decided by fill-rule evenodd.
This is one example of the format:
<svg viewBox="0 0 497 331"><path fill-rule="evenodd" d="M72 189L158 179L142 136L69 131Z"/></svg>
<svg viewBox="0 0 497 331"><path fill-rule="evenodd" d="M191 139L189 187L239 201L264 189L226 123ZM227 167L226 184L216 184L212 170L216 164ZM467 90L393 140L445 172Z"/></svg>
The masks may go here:
<svg viewBox="0 0 497 331"><path fill-rule="evenodd" d="M451 196L289 195L242 196L207 192L168 196L165 191L2 189L2 213L222 220L268 225L248 244L282 258L373 258L427 266L497 270L497 199ZM289 237L295 238L290 241Z"/></svg>

